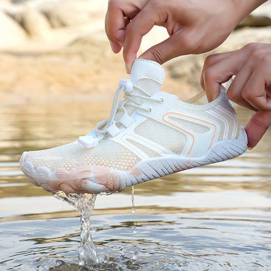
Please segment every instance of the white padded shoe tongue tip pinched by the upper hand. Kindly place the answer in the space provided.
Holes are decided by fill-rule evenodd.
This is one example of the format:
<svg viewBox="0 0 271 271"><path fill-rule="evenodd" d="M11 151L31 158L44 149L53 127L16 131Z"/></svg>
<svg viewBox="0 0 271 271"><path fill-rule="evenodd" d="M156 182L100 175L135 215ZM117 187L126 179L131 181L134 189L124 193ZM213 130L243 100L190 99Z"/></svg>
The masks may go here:
<svg viewBox="0 0 271 271"><path fill-rule="evenodd" d="M153 95L160 91L164 78L164 69L157 62L135 59L130 76L130 80L134 85L141 87L148 94ZM133 92L143 95L137 88L134 88Z"/></svg>

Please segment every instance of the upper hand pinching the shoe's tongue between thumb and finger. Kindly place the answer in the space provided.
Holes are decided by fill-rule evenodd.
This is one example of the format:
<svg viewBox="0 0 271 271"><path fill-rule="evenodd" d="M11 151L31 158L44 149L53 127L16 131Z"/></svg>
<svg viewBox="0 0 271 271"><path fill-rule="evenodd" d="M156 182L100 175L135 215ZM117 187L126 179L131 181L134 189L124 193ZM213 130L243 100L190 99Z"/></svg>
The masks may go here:
<svg viewBox="0 0 271 271"><path fill-rule="evenodd" d="M113 52L122 47L130 73L142 37L154 25L164 26L169 38L140 58L160 64L184 54L199 54L219 46L234 27L266 0L109 0L105 31Z"/></svg>

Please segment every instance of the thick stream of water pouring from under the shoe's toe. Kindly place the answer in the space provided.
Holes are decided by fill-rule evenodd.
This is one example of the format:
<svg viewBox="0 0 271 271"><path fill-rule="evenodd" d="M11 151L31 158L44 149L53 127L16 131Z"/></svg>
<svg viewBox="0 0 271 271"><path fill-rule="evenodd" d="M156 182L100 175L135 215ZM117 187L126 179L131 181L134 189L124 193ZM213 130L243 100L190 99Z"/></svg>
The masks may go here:
<svg viewBox="0 0 271 271"><path fill-rule="evenodd" d="M68 202L81 215L80 248L78 261L80 266L93 265L106 261L106 256L98 256L96 245L93 243L90 217L92 215L97 195L93 194L69 194L68 196L58 191L53 193L54 197Z"/></svg>

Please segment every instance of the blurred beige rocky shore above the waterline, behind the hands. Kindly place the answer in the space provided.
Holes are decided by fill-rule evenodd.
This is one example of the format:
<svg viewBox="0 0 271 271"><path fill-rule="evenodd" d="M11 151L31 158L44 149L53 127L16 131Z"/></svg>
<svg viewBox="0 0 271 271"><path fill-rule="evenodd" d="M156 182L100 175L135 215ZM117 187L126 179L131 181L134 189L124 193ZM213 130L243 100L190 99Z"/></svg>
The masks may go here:
<svg viewBox="0 0 271 271"><path fill-rule="evenodd" d="M1 0L0 105L112 96L126 74L122 54L111 52L104 32L106 9L107 0ZM270 42L270 25L267 1L215 52ZM143 38L140 51L166 37L163 27L155 27ZM199 89L207 54L178 57L164 65L164 89L190 97Z"/></svg>

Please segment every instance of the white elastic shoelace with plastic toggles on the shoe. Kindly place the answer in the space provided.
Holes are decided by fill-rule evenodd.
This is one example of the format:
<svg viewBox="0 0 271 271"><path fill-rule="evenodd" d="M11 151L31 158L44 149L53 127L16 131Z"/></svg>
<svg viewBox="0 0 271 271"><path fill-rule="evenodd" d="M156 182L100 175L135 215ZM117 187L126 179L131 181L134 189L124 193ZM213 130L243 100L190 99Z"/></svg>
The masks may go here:
<svg viewBox="0 0 271 271"><path fill-rule="evenodd" d="M142 94L136 94L132 93L133 88L137 88ZM119 99L121 98L122 93L124 94L124 100L119 102ZM133 85L130 79L124 79L121 78L118 83L118 87L116 89L114 100L111 108L111 112L108 119L104 119L103 121L99 122L95 128L95 136L92 134L87 134L85 136L80 136L78 138L78 142L89 148L89 147L95 147L98 144L98 141L102 140L107 134L110 134L112 137L118 135L121 133L121 130L118 129L116 125L122 124L126 128L129 127L132 123L134 123L134 119L128 115L126 106L130 105L134 108L144 110L146 112L150 111L150 108L145 108L142 106L142 103L140 103L135 98L148 100L148 101L154 101L154 102L163 102L163 99L154 99L149 95L144 89L137 85ZM116 112L123 111L123 115L119 118L118 121L115 121L115 115ZM102 129L102 127L104 127Z"/></svg>

